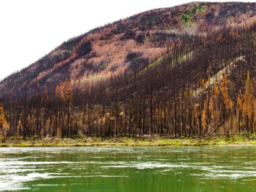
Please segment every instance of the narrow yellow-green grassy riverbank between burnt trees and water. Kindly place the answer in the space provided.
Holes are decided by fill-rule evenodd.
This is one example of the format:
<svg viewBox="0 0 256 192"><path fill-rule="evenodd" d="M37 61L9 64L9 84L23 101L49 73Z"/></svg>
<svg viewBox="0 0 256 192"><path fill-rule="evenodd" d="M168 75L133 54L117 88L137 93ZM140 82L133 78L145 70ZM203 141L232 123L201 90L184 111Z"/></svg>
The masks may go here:
<svg viewBox="0 0 256 192"><path fill-rule="evenodd" d="M65 146L228 146L255 145L256 140L243 137L216 137L214 139L131 139L127 137L104 139L88 137L86 139L11 139L0 143L0 147L65 147Z"/></svg>

